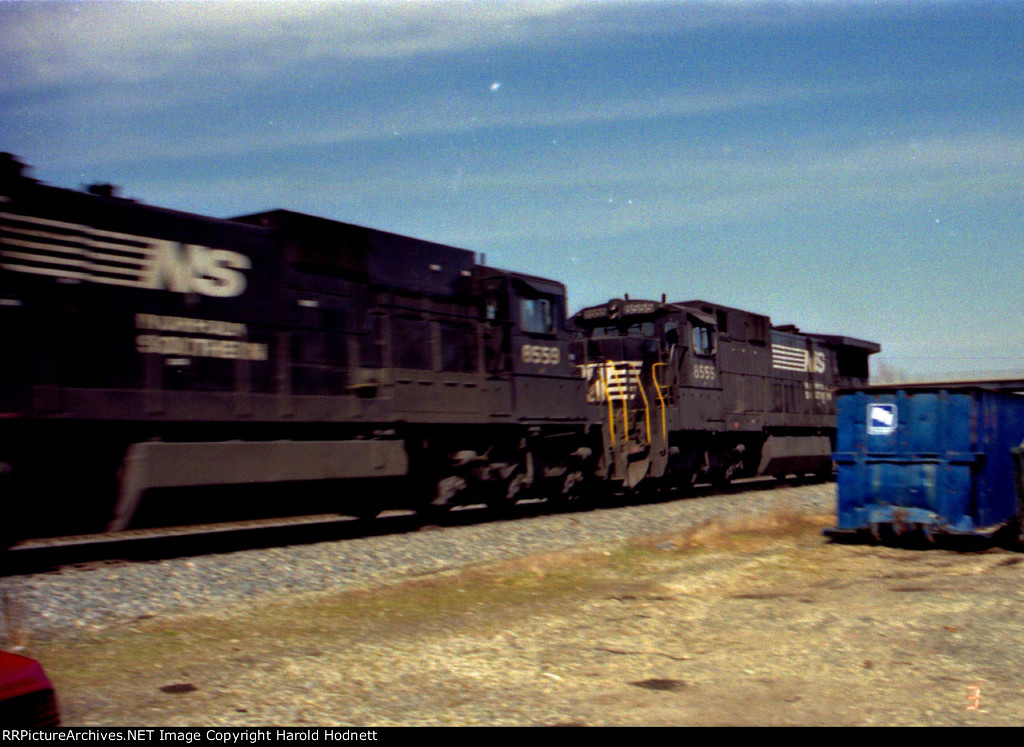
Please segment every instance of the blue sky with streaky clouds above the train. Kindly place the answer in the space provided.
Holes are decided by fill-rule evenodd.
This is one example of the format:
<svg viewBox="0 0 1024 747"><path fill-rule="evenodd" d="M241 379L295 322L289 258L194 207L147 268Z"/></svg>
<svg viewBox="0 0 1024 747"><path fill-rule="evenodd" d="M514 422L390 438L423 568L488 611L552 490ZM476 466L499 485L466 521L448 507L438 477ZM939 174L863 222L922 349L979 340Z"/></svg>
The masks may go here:
<svg viewBox="0 0 1024 747"><path fill-rule="evenodd" d="M1024 375L1024 3L0 4L50 183L473 249Z"/></svg>

